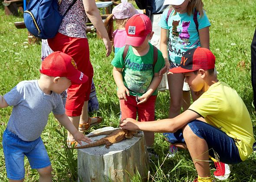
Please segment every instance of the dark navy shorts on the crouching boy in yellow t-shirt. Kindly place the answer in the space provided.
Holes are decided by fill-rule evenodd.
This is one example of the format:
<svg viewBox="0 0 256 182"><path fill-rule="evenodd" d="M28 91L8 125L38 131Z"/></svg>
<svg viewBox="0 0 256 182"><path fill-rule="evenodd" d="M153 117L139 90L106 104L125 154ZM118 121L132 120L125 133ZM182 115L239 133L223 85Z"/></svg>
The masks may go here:
<svg viewBox="0 0 256 182"><path fill-rule="evenodd" d="M215 158L215 152L220 162L226 164L242 162L235 140L226 133L200 120L190 121L187 125L198 137L207 142L210 156ZM169 143L185 143L182 130L177 130L175 133L163 133L163 135Z"/></svg>

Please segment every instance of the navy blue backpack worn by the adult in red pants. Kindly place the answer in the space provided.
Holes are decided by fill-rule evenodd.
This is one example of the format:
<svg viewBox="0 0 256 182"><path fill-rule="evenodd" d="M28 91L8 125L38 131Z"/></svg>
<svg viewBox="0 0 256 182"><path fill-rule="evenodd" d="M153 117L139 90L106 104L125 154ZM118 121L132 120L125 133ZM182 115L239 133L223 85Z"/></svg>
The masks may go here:
<svg viewBox="0 0 256 182"><path fill-rule="evenodd" d="M63 17L75 2L76 0L72 1L62 16L58 10L57 0L30 0L23 15L26 28L33 36L40 39L55 37Z"/></svg>

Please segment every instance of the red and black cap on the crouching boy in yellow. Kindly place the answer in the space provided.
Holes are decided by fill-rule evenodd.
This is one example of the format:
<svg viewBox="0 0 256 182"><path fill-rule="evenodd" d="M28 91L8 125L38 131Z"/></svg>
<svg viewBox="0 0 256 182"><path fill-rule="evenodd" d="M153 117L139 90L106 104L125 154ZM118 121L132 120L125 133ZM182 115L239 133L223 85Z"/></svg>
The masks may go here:
<svg viewBox="0 0 256 182"><path fill-rule="evenodd" d="M170 69L172 73L186 73L199 69L213 69L215 67L215 56L206 48L197 47L190 49L181 57L181 66Z"/></svg>

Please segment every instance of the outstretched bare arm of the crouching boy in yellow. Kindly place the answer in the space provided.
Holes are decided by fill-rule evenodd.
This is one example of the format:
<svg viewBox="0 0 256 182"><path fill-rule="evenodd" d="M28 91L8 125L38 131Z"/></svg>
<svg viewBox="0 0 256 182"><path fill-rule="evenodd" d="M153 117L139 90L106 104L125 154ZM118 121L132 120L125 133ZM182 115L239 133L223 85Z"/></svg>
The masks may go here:
<svg viewBox="0 0 256 182"><path fill-rule="evenodd" d="M177 130L183 128L188 122L200 117L196 112L192 110L186 110L184 113L171 119L163 119L157 121L138 122L132 118L126 118L120 121L120 127L124 130L143 130L152 131L158 133L174 133Z"/></svg>

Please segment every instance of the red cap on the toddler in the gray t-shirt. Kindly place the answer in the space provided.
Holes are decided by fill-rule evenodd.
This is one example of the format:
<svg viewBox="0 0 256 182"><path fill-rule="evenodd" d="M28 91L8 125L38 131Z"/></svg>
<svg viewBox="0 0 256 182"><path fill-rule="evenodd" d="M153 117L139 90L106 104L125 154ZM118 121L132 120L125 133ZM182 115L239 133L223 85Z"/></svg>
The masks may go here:
<svg viewBox="0 0 256 182"><path fill-rule="evenodd" d="M82 84L88 80L88 77L77 69L74 59L59 51L48 55L43 60L39 71L47 76L66 77L76 84Z"/></svg>

